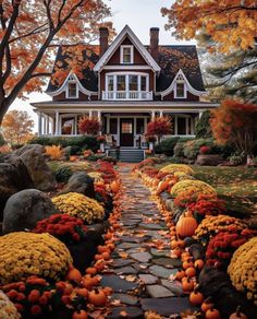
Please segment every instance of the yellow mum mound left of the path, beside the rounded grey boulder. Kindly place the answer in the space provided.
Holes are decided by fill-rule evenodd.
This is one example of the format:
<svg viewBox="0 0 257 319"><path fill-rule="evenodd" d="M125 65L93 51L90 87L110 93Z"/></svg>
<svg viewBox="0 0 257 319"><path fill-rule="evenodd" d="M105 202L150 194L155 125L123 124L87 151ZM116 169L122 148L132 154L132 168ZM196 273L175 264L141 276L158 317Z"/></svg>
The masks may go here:
<svg viewBox="0 0 257 319"><path fill-rule="evenodd" d="M82 193L69 192L52 199L56 208L63 214L78 217L88 224L101 221L105 217L105 209L96 200Z"/></svg>

